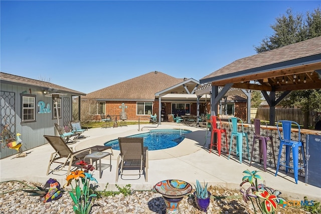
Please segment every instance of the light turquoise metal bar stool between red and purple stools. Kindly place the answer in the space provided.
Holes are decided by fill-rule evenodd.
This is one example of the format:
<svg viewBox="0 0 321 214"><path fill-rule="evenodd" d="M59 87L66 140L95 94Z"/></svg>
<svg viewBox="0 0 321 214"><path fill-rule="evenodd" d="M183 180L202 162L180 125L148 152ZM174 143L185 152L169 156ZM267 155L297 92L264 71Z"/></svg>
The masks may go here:
<svg viewBox="0 0 321 214"><path fill-rule="evenodd" d="M241 122L242 126L242 132L237 131L237 121ZM240 158L240 163L242 163L242 154L244 152L247 152L247 156L249 157L250 160L250 153L249 153L249 138L247 136L247 133L244 132L244 126L243 126L243 121L240 118L229 118L229 124L231 128L231 142L230 142L230 152L229 152L229 157L231 155L231 151L236 152L236 156L239 155ZM236 137L236 150L232 150L232 143L233 143L233 137ZM243 150L243 137L246 138L246 149Z"/></svg>

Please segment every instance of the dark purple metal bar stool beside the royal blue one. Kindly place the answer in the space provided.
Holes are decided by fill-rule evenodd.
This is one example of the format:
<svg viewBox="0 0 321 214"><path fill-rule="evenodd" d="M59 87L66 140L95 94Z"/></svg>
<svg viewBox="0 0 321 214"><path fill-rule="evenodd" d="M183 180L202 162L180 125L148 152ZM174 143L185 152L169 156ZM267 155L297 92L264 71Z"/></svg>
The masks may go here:
<svg viewBox="0 0 321 214"><path fill-rule="evenodd" d="M251 151L251 162L250 162L250 166L252 164L252 160L253 160L253 151L254 151L254 147L255 147L255 141L259 140L259 150L260 150L260 154L259 154L259 161L260 163L262 163L263 160L263 165L264 165L264 171L266 172L266 161L267 161L267 142L270 141L270 146L272 148L272 154L273 154L273 160L274 160L274 166L276 168L276 161L275 161L275 155L274 155L274 147L273 147L273 138L272 136L268 136L268 132L267 132L267 123L266 121L263 121L263 123L265 123L265 130L266 133L265 135L261 135L261 121L260 119L254 119L254 135L253 135L253 144L252 144L252 151ZM251 124L252 127L252 124ZM253 130L253 127L252 127ZM271 158L270 158L271 159Z"/></svg>

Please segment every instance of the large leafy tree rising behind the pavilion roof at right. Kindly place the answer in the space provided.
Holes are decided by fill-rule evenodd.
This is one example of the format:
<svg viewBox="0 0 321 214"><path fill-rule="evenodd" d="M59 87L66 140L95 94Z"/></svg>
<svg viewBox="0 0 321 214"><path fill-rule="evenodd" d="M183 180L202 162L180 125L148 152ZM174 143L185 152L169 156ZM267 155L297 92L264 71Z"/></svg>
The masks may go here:
<svg viewBox="0 0 321 214"><path fill-rule="evenodd" d="M276 23L270 26L274 34L262 40L259 46L254 47L257 53L283 47L286 45L301 42L321 36L321 11L320 8L314 9L312 13L307 12L304 17L302 14L293 15L292 10L288 9L286 15L276 18ZM278 97L281 93L276 93ZM308 126L308 111L319 112L321 110L320 100L321 90L295 90L286 96L280 105L286 108L298 106L304 113L304 128Z"/></svg>

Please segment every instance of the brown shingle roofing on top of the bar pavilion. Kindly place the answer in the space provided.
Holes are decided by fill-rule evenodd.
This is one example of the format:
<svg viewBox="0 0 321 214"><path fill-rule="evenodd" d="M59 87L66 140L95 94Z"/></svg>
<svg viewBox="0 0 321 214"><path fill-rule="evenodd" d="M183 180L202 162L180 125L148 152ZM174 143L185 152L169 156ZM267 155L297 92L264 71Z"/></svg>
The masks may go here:
<svg viewBox="0 0 321 214"><path fill-rule="evenodd" d="M321 37L316 37L270 51L262 52L253 56L238 59L201 78L201 80L317 54L321 54Z"/></svg>

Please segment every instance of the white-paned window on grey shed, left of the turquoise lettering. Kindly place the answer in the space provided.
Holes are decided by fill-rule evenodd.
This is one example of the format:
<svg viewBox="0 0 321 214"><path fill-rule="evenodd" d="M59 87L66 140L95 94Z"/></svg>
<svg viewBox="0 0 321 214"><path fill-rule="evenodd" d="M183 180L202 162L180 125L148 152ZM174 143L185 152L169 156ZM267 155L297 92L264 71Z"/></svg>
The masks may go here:
<svg viewBox="0 0 321 214"><path fill-rule="evenodd" d="M22 94L22 122L36 121L36 96Z"/></svg>

